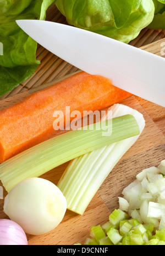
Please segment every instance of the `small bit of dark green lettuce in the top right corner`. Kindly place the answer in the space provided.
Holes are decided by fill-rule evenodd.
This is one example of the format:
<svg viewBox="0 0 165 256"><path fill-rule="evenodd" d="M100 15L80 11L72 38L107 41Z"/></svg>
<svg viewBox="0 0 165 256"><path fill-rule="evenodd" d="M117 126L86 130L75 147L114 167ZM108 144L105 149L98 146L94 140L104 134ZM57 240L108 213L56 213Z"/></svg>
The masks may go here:
<svg viewBox="0 0 165 256"><path fill-rule="evenodd" d="M165 0L153 0L155 4L155 15L149 28L165 29Z"/></svg>

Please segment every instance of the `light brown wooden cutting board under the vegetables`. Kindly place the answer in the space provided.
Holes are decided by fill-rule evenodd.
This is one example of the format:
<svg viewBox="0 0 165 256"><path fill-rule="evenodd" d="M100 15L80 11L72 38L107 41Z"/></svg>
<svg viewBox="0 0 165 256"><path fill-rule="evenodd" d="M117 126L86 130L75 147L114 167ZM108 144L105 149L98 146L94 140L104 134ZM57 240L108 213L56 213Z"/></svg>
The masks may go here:
<svg viewBox="0 0 165 256"><path fill-rule="evenodd" d="M142 49L161 55L162 42L163 40L157 41L144 46ZM73 71L75 70L73 69ZM30 93L48 87L62 79L64 77L28 91L14 93L11 97L2 98L0 110L23 100ZM140 138L120 159L111 174L108 175L83 216L67 211L62 223L54 231L42 236L27 234L29 245L72 245L84 243L86 237L89 236L90 227L105 223L108 220L108 215L115 208L118 208L118 196L122 196L122 190L135 179L136 174L144 168L157 166L161 160L165 159L165 108L136 96L131 96L120 103L137 109L144 114L146 127ZM58 166L41 177L57 184L67 165L68 163ZM2 186L1 183L0 186ZM3 192L3 197L5 197L7 192L5 190ZM0 218L8 218L3 212L3 202L4 200L0 199Z"/></svg>

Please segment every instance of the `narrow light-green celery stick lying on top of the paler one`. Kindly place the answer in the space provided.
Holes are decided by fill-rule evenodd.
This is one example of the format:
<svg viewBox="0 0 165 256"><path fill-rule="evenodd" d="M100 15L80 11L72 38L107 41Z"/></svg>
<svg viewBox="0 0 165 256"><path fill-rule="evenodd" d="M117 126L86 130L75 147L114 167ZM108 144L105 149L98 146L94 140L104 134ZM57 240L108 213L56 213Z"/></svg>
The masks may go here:
<svg viewBox="0 0 165 256"><path fill-rule="evenodd" d="M111 135L102 135L105 130ZM56 136L27 149L0 165L0 179L7 191L21 180L38 177L69 160L139 134L139 126L131 114L113 118ZM111 146L109 146L111 147ZM95 163L95 158L93 159ZM94 164L94 163L91 163Z"/></svg>

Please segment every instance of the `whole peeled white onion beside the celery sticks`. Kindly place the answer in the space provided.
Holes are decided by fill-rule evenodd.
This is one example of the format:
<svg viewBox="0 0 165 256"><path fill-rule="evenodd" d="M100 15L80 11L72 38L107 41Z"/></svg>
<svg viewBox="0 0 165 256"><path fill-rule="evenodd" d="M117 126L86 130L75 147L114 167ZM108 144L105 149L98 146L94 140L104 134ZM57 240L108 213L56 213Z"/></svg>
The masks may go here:
<svg viewBox="0 0 165 256"><path fill-rule="evenodd" d="M52 231L63 220L67 202L52 182L38 177L21 181L4 199L4 212L28 234Z"/></svg>

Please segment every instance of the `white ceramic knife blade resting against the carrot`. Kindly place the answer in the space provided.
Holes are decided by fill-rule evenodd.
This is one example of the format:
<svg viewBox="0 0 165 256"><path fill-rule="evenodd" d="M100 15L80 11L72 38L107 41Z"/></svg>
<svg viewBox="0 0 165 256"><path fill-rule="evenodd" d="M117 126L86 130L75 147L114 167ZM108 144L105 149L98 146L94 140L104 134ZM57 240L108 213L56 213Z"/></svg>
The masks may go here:
<svg viewBox="0 0 165 256"><path fill-rule="evenodd" d="M165 59L84 29L45 20L17 20L51 53L133 95L165 107Z"/></svg>

